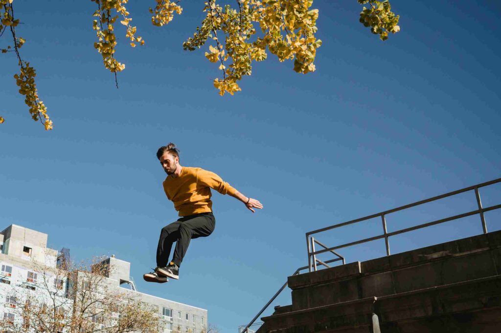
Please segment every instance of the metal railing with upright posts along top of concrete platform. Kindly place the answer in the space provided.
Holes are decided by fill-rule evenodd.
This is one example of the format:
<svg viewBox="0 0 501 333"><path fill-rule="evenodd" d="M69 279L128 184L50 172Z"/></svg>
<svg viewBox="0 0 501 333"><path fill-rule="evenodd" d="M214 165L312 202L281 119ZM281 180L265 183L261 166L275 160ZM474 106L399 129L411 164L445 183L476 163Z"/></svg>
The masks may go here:
<svg viewBox="0 0 501 333"><path fill-rule="evenodd" d="M347 222L343 222L343 223L339 223L339 224L334 224L334 225L331 225L331 226L327 226L327 227L324 227L324 228L321 228L321 229L318 229L318 230L309 231L309 232L306 233L306 244L307 244L307 249L308 249L308 266L307 266L307 268L308 268L308 270L310 272L312 270L316 271L317 270L317 262L320 263L320 264L322 264L322 265L327 266L326 263L328 263L328 262L332 262L332 261L335 261L335 260L340 260L339 258L337 258L337 259L334 259L334 260L329 260L329 261L326 261L326 262L322 262L321 260L317 259L317 255L318 254L325 253L325 252L331 252L331 253L334 253L335 255L337 255L338 257L342 257L340 254L336 253L334 250L339 249L339 248L343 248L343 247L348 247L348 246L356 245L356 244L365 243L365 242L372 241L372 240L382 239L382 238L384 238L384 240L385 240L386 255L390 255L390 241L389 241L389 237L391 237L391 236L394 236L394 235L397 235L397 234L401 234L401 233L404 233L404 232L409 232L409 231L421 229L421 228L424 228L424 227L427 227L427 226L431 226L431 225L435 225L435 224L439 224L439 223L444 223L444 222L452 221L452 220L455 220L455 219L458 219L458 218L462 218L462 217L466 217L466 216L471 216L471 215L474 215L474 214L479 214L480 215L480 221L482 223L483 233L487 233L487 225L485 223L484 212L489 211L489 210L494 210L494 209L501 208L501 204L496 204L496 205L492 205L492 206L489 206L489 207L482 207L482 202L480 200L479 188L480 187L485 187L485 186L488 186L488 185L492 185L492 184L495 184L495 183L498 183L498 182L501 182L501 178L497 178L497 179L490 180L490 181L487 181L487 182L483 182L483 183L480 183L480 184L476 184L476 185L473 185L473 186L465 187L465 188L458 189L458 190L455 190L455 191L452 191L452 192L448 192L448 193L445 193L445 194L433 196L433 197L428 198L428 199L424 199L424 200L417 201L417 202L414 202L414 203L406 204L406 205L403 205L403 206L400 206L400 207L397 207L397 208L393 208L393 209L390 209L390 210L385 210L385 211L379 212L377 214L372 214L372 215L361 217L361 218L357 218L357 219L354 219L354 220L351 220L351 221L347 221ZM428 203L428 202L431 202L431 201L439 200L439 199L442 199L442 198L445 198L445 197L449 197L449 196L456 195L456 194L459 194L459 193L464 193L464 192L471 191L471 190L473 190L475 192L476 203L477 203L478 209L475 209L475 210L472 210L472 211L467 211L467 212L464 212L462 214L458 214L458 215L454 215L454 216L449 216L449 217L437 219L437 220L434 220L434 221L431 221L431 222L427 222L427 223L423 223L423 224L419 224L419 225L416 225L416 226L412 226L412 227L400 229L400 230L393 231L393 232L388 232L387 231L387 228L386 228L386 215L388 215L390 213L393 213L393 212L396 212L396 211L400 211L400 210L403 210L403 209L407 209L407 208L410 208L410 207L415 207L415 206L418 206L420 204L424 204L424 203ZM335 228L339 228L341 226L345 226L345 225L349 225L349 224L353 224L353 223L365 221L365 220L368 220L368 219L371 219L371 218L375 218L375 217L380 217L381 218L381 225L382 225L382 228L383 228L383 233L380 234L380 235L374 236L374 237L364 238L364 239L360 239L360 240L357 240L357 241L352 241L352 242L345 243L345 244L338 245L338 246L327 247L326 245L322 244L320 241L318 241L317 239L315 239L314 237L311 236L312 234L320 233L320 232L327 231L327 230L332 230L332 229L335 229ZM315 250L315 244L319 244L320 246L323 247L323 249L321 249L321 250ZM343 264L344 263L345 263L345 261L344 261L344 258L343 258Z"/></svg>

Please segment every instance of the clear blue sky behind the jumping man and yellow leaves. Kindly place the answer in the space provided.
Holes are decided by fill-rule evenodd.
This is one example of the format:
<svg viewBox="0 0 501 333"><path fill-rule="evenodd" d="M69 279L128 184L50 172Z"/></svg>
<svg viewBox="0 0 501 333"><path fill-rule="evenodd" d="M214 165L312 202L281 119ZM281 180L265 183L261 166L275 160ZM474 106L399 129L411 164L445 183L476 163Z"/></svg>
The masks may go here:
<svg viewBox="0 0 501 333"><path fill-rule="evenodd" d="M154 1L131 0L146 44L126 46L118 28L116 56L126 64L119 89L93 48L94 3L15 1L22 56L37 69L55 128L30 119L14 54L2 54L0 224L46 232L50 246L71 248L77 260L115 254L131 262L140 291L207 308L209 322L236 331L306 265L305 232L501 175L501 5L391 3L401 31L381 42L358 22L357 1L315 1L317 71L297 74L269 54L241 92L221 97L205 49L182 50L203 18L202 1L182 2L182 15L158 28L147 12ZM148 284L141 275L155 265L160 228L177 218L155 156L170 141L182 165L218 173L265 208L252 214L215 193L216 229L192 241L181 279ZM485 189L482 200L497 204L500 192ZM475 203L466 193L388 217L388 228ZM501 228L499 215L486 214L489 230ZM368 221L319 239L337 245L380 227ZM390 243L398 252L480 232L473 216ZM384 255L384 245L342 253L364 260ZM274 305L290 302L285 292Z"/></svg>

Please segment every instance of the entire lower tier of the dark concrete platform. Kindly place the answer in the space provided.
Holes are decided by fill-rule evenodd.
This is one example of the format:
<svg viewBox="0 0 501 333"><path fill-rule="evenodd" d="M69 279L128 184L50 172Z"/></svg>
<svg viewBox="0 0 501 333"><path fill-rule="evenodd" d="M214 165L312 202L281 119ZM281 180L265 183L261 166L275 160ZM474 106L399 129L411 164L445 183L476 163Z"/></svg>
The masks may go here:
<svg viewBox="0 0 501 333"><path fill-rule="evenodd" d="M501 276L277 313L262 318L259 332L367 333L372 313L383 333L498 333Z"/></svg>

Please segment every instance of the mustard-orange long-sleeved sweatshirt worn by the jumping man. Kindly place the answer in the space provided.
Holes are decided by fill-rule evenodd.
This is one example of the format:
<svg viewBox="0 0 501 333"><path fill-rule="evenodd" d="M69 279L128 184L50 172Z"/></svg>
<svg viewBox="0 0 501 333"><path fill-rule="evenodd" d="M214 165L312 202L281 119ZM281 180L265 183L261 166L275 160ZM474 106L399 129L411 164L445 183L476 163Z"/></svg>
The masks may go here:
<svg viewBox="0 0 501 333"><path fill-rule="evenodd" d="M236 192L217 174L199 167L183 166L179 176L173 178L168 175L163 181L163 190L179 211L179 216L212 211L211 188L221 194Z"/></svg>

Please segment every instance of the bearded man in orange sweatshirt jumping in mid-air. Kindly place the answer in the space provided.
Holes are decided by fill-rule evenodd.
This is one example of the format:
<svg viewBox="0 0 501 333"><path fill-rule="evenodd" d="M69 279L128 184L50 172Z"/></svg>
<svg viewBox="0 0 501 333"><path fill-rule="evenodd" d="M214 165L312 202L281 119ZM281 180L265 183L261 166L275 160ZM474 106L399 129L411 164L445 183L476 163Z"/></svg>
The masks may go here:
<svg viewBox="0 0 501 333"><path fill-rule="evenodd" d="M157 247L157 267L153 272L143 275L146 281L163 283L167 282L167 276L179 278L179 266L190 240L206 237L214 231L211 188L221 194L237 198L252 212L255 212L253 208L261 209L263 205L258 200L241 194L214 172L199 167L181 166L179 149L174 143L158 148L157 158L167 173L163 189L180 216L177 221L162 228ZM172 261L168 262L174 242L176 242L174 255Z"/></svg>

